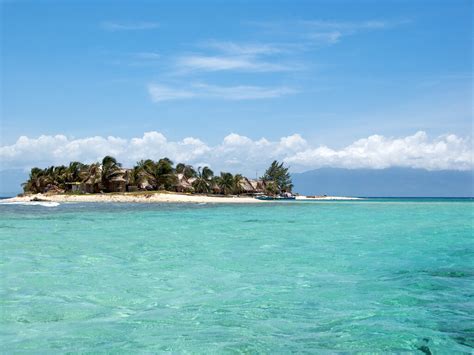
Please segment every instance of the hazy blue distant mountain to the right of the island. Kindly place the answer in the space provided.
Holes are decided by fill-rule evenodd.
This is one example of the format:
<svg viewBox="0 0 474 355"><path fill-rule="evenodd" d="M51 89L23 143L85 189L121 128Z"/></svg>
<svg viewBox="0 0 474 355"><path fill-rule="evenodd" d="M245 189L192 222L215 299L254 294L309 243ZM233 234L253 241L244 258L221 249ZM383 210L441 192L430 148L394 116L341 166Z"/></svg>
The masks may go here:
<svg viewBox="0 0 474 355"><path fill-rule="evenodd" d="M472 197L473 171L321 168L293 174L304 195L365 197Z"/></svg>

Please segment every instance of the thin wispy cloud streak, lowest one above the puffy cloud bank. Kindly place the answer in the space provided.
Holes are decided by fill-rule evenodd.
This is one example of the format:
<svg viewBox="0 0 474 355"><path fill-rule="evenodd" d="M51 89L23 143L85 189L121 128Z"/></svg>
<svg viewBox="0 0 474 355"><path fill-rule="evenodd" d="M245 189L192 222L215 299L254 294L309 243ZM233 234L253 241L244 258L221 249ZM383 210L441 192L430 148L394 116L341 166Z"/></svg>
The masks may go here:
<svg viewBox="0 0 474 355"><path fill-rule="evenodd" d="M261 86L216 86L207 84L192 84L185 89L176 89L166 85L148 85L148 93L152 101L207 98L224 100L259 100L272 99L296 93L296 90L287 87Z"/></svg>

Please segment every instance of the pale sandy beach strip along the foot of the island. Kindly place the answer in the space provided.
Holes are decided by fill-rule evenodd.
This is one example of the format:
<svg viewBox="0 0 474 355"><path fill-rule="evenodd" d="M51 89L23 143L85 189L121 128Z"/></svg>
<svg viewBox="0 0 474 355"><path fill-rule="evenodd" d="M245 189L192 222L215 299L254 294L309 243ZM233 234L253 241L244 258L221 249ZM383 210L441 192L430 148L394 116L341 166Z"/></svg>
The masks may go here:
<svg viewBox="0 0 474 355"><path fill-rule="evenodd" d="M296 201L324 201L324 200L360 200L356 197L321 196L308 198L298 196ZM99 202L99 203L268 203L276 201L262 201L249 196L209 196L197 194L180 194L165 192L143 193L104 193L104 194L31 194L25 196L3 199L2 203L27 203L27 202Z"/></svg>

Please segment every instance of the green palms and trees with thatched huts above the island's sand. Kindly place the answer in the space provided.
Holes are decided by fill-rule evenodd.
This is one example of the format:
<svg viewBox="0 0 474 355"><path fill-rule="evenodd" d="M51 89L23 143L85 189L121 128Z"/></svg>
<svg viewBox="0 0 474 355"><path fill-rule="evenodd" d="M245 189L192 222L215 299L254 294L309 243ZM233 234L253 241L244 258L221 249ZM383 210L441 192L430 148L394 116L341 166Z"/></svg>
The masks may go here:
<svg viewBox="0 0 474 355"><path fill-rule="evenodd" d="M71 162L69 166L31 169L23 184L26 193L101 193L140 191L170 191L204 194L239 195L267 193L277 195L292 188L288 168L274 161L260 180L241 174L221 172L215 176L207 166L198 167L174 163L168 158L158 161L140 160L131 169L124 169L111 156L100 163Z"/></svg>

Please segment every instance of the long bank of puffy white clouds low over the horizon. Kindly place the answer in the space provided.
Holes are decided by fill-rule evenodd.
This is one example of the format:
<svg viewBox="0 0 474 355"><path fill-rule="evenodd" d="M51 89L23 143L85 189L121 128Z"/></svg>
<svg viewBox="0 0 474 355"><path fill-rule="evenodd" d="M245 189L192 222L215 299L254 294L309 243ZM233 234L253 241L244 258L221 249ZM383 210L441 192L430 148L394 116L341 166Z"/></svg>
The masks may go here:
<svg viewBox="0 0 474 355"><path fill-rule="evenodd" d="M46 167L72 160L93 162L113 155L125 166L144 158L169 157L175 162L209 165L215 170L243 172L255 176L273 160L285 161L293 172L319 167L370 168L412 167L428 170L473 169L470 138L444 135L430 139L425 132L389 138L373 135L342 148L317 146L299 134L269 141L253 140L235 133L220 144L210 146L195 137L169 141L162 133L146 132L142 137L68 138L64 135L20 137L14 144L0 147L1 169Z"/></svg>

